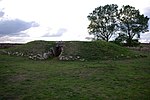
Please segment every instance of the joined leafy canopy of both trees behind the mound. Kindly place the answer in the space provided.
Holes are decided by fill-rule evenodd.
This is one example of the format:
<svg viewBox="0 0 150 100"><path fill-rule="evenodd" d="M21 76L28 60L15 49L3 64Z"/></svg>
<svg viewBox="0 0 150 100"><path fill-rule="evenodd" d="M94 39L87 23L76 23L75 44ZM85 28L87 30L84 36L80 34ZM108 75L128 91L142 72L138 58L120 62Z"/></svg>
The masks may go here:
<svg viewBox="0 0 150 100"><path fill-rule="evenodd" d="M88 15L88 19L88 31L95 40L109 41L114 34L118 34L130 46L133 38L140 38L140 33L148 31L149 18L129 5L120 9L116 4L97 7Z"/></svg>

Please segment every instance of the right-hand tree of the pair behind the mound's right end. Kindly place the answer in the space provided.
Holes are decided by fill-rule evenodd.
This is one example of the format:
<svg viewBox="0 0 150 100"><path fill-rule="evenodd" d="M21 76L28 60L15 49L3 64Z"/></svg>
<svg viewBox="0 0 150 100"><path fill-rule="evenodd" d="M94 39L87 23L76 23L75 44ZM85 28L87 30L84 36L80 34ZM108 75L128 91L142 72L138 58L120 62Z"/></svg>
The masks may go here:
<svg viewBox="0 0 150 100"><path fill-rule="evenodd" d="M126 42L129 46L132 45L133 38L140 38L141 32L148 31L149 18L140 14L132 6L123 6L119 11L120 31L126 36Z"/></svg>

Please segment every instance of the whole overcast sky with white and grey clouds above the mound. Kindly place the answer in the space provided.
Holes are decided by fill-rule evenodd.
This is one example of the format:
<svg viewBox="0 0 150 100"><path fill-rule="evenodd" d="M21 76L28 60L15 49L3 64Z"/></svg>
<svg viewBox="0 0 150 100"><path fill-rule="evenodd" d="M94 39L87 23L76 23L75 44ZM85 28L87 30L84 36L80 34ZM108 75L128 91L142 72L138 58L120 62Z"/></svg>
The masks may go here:
<svg viewBox="0 0 150 100"><path fill-rule="evenodd" d="M150 0L0 0L0 42L86 40L88 14L106 4L131 5L150 17ZM150 42L150 32L141 41Z"/></svg>

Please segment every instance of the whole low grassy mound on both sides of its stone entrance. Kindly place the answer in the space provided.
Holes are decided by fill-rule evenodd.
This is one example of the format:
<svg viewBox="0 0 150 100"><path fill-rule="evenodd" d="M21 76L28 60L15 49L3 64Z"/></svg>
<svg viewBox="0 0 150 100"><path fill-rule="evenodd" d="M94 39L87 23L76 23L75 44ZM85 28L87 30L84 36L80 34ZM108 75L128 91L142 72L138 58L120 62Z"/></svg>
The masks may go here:
<svg viewBox="0 0 150 100"><path fill-rule="evenodd" d="M108 60L141 56L127 48L104 41L66 41L63 42L63 45L63 51L59 56L60 60ZM55 41L32 41L24 45L9 48L7 51L12 55L32 56L34 59L34 57L37 58L37 55L43 57L44 53L50 51L55 46Z"/></svg>

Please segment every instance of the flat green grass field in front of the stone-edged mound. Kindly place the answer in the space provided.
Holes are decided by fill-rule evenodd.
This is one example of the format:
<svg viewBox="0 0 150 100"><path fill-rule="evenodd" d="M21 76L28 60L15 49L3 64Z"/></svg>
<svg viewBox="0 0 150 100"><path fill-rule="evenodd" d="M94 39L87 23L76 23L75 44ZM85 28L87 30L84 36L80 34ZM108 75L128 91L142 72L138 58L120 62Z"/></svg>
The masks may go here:
<svg viewBox="0 0 150 100"><path fill-rule="evenodd" d="M150 56L33 61L0 55L0 100L150 100Z"/></svg>

